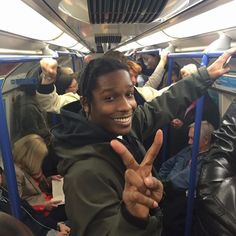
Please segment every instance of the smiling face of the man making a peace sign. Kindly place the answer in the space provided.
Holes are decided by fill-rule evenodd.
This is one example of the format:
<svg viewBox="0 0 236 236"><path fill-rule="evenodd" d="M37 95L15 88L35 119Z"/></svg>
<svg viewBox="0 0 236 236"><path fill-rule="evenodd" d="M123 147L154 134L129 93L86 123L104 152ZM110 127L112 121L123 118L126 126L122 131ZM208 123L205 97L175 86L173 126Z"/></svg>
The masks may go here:
<svg viewBox="0 0 236 236"><path fill-rule="evenodd" d="M91 121L116 135L130 132L137 104L127 71L117 70L100 76L92 96L92 102L88 105Z"/></svg>

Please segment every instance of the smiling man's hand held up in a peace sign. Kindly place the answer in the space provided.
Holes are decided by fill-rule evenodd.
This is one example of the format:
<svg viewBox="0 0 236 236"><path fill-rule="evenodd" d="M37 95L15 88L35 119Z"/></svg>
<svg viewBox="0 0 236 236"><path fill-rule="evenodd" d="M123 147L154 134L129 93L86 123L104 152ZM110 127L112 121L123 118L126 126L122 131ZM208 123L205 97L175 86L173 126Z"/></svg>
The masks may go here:
<svg viewBox="0 0 236 236"><path fill-rule="evenodd" d="M162 199L163 185L152 176L152 166L163 140L161 130L156 132L154 142L139 165L128 149L118 140L112 140L113 150L119 154L127 170L123 201L127 210L136 217L147 218L150 208L156 208Z"/></svg>

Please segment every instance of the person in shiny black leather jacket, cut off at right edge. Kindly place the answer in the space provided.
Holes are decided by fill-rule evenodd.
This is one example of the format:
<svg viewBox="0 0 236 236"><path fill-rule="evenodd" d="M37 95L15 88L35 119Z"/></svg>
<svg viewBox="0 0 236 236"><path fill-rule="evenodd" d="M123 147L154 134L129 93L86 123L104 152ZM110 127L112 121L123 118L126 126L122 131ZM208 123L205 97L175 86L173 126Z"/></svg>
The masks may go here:
<svg viewBox="0 0 236 236"><path fill-rule="evenodd" d="M214 132L197 187L195 235L236 235L236 99Z"/></svg>

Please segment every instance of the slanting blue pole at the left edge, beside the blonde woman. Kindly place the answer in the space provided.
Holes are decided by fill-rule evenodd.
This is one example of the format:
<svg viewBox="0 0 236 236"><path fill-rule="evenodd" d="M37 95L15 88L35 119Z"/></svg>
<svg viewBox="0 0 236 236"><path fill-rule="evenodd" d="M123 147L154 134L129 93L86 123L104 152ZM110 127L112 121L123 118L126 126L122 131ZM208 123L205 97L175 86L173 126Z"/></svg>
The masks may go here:
<svg viewBox="0 0 236 236"><path fill-rule="evenodd" d="M12 215L20 219L20 198L16 184L16 173L12 158L11 143L7 128L7 120L3 105L2 90L0 88L0 145L4 166L4 173L7 181L7 189L11 203Z"/></svg>

